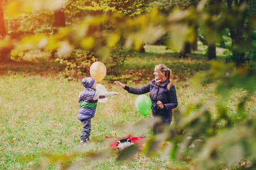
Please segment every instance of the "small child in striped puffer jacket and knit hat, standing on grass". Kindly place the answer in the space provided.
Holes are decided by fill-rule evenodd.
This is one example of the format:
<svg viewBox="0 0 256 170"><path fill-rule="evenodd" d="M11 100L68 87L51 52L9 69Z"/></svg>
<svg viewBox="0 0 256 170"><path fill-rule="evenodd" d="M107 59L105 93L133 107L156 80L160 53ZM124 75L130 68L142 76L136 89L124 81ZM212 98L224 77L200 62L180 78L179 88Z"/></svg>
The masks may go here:
<svg viewBox="0 0 256 170"><path fill-rule="evenodd" d="M95 79L91 77L82 79L82 85L85 87L85 90L80 92L78 97L78 120L81 120L83 126L80 146L86 145L90 142L89 135L91 131L91 118L94 117L98 99L104 99L112 95L120 96L117 92L96 91Z"/></svg>

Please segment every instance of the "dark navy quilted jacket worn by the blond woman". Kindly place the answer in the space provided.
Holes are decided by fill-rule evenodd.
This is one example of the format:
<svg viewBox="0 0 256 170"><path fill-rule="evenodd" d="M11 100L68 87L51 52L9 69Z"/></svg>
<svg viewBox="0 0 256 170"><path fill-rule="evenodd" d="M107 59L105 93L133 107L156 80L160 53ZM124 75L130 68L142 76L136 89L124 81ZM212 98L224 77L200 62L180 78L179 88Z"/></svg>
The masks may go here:
<svg viewBox="0 0 256 170"><path fill-rule="evenodd" d="M178 106L178 100L174 85L171 84L170 90L167 89L169 82L169 79L166 79L165 82L160 84L160 86L157 86L156 81L152 80L150 83L142 86L141 88L125 86L125 90L131 94L136 95L146 94L149 92L149 97L152 100L153 116L171 118L173 116L171 109L174 109ZM164 106L163 109L158 107L157 101L162 101Z"/></svg>

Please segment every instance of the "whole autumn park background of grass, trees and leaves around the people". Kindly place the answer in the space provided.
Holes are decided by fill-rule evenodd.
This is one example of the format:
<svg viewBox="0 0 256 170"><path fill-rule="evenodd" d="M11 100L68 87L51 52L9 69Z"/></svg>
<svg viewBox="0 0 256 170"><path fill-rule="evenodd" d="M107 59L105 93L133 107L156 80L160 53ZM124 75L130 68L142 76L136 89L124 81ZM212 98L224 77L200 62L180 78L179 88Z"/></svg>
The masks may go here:
<svg viewBox="0 0 256 170"><path fill-rule="evenodd" d="M254 169L255 25L255 0L0 1L0 168ZM77 96L95 61L121 96L98 104L79 148ZM158 63L179 105L150 138L152 116L113 82L141 87ZM142 151L108 148L105 136L128 134L149 138Z"/></svg>

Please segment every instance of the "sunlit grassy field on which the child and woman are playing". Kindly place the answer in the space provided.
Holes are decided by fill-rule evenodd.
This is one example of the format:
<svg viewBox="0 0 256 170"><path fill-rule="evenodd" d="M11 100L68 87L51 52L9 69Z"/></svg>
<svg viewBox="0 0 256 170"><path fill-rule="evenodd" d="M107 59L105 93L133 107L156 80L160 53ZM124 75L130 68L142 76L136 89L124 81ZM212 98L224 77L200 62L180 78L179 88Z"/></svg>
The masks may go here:
<svg viewBox="0 0 256 170"><path fill-rule="evenodd" d="M165 63L173 70L175 77L179 101L177 109L188 106L195 109L193 106L204 100L209 103L212 116L215 116L216 108L212 103L219 98L215 93L215 83L200 87L191 83L192 75L209 69L210 63L200 54L192 54L190 59L179 59L170 52L162 53L163 50L161 46L148 46L143 56L138 54L137 57L127 58L124 68L135 77L125 80L124 76L124 82L140 87L153 79L154 65ZM66 165L72 165L70 169L186 167L186 162L169 156L159 154L149 157L143 152L127 161L116 162L120 151L110 150L105 136L132 134L149 138L152 127L150 124L140 130L137 127L124 130L112 125L136 125L152 116L142 116L137 112L137 96L121 90L113 82L103 80L100 83L108 91L120 92L121 96L111 96L106 103L98 103L92 119L92 143L86 148L79 148L82 126L77 120L77 98L83 90L81 82L64 79L61 76L63 67L47 61L2 63L0 70L0 169L31 169L36 165L44 169L62 169ZM228 103L230 114L237 109L236 105L244 95L241 90L231 96ZM255 98L255 95L251 96L246 105L249 114L256 110ZM171 126L175 126L175 120ZM98 157L103 160L94 153L99 153Z"/></svg>

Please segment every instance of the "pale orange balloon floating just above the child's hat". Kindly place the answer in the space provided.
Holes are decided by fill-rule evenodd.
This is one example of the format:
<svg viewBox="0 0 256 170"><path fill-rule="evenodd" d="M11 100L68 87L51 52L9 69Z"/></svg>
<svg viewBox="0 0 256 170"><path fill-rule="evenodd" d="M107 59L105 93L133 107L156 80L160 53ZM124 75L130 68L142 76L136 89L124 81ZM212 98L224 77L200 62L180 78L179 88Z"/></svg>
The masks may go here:
<svg viewBox="0 0 256 170"><path fill-rule="evenodd" d="M99 83L104 79L107 73L107 68L104 63L100 61L94 62L90 67L91 77L95 78L96 82Z"/></svg>

